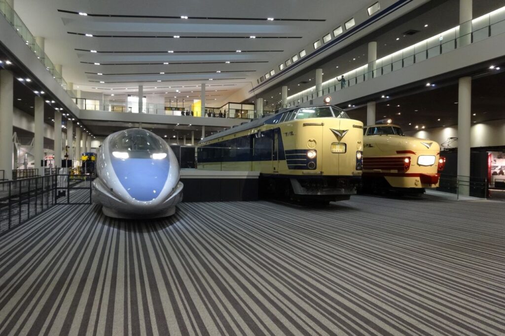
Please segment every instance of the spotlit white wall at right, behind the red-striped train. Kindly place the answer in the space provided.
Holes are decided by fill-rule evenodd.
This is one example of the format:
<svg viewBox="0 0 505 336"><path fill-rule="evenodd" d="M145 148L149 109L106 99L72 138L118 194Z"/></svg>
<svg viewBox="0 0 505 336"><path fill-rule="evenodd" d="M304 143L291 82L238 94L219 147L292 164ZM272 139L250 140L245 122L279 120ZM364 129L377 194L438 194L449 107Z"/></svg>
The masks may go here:
<svg viewBox="0 0 505 336"><path fill-rule="evenodd" d="M458 137L458 126L438 127L405 133L413 137L442 143L450 137ZM470 128L470 136L471 147L505 146L505 119L473 124ZM458 147L458 142L453 142L451 147Z"/></svg>

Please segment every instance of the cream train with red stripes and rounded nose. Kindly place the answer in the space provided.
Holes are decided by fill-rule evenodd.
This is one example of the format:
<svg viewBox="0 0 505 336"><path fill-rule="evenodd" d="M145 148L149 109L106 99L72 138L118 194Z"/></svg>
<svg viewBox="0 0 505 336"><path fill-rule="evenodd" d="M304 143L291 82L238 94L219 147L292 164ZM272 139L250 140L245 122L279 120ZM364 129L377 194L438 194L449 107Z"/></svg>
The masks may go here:
<svg viewBox="0 0 505 336"><path fill-rule="evenodd" d="M391 119L365 126L363 134L364 191L423 193L438 187L445 165L438 143L403 135Z"/></svg>

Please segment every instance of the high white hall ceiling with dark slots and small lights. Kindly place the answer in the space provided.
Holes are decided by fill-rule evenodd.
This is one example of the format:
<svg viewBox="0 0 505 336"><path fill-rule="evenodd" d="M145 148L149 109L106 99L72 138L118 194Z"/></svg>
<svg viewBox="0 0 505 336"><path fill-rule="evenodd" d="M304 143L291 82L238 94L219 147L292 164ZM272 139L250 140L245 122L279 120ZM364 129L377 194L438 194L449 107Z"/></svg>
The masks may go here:
<svg viewBox="0 0 505 336"><path fill-rule="evenodd" d="M200 83L223 85L219 88L223 90L220 91L219 99L212 102L216 106L226 102L226 98L233 92L250 86L251 82L256 82L262 74L276 69L277 65L290 55L333 29L335 23L345 20L367 5L370 5L369 0L313 2L306 0L234 2L225 0L207 2L200 0L184 2L15 0L16 12L32 34L45 38L47 55L53 63L63 66L63 77L67 82L74 83L74 89L106 94L134 93L138 84L143 84L144 93L160 92L161 95L173 98L176 95L176 87L182 85L196 86ZM101 15L175 16L176 18L94 17L62 13L58 10ZM183 20L180 16L188 16L189 19ZM191 19L194 17L218 19ZM266 20L269 17L325 21ZM230 18L238 19L230 20ZM261 20L245 20L245 18ZM95 36L86 37L68 32L88 33ZM96 37L96 35L172 37L179 35L181 38L121 38ZM250 39L248 38L250 35L257 38ZM185 36L203 38L184 38ZM274 36L281 38L260 38ZM116 52L91 53L76 49ZM243 52L235 52L238 49ZM168 53L168 50L175 52ZM262 51L257 52L258 50ZM146 53L145 51L160 52ZM179 53L177 51L192 52ZM226 64L226 61L231 63ZM172 64L163 65L164 62ZM194 64L197 62L207 64ZM100 65L92 63L100 63ZM107 63L119 65L104 65ZM125 63L129 65L124 65ZM160 64L139 65L138 63ZM160 72L165 72L165 74L160 74ZM97 75L97 73L104 75ZM213 81L210 81L211 78ZM158 80L162 82L157 82ZM99 83L99 81L105 83ZM168 88L169 86L172 88ZM165 94L165 92L169 93Z"/></svg>

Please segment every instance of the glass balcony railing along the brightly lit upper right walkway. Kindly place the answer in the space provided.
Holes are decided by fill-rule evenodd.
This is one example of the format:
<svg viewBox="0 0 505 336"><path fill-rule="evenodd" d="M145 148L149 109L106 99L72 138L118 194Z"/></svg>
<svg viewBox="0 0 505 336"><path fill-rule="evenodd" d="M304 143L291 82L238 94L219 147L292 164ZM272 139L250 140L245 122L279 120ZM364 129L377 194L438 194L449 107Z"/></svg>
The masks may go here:
<svg viewBox="0 0 505 336"><path fill-rule="evenodd" d="M325 81L319 94L316 86L313 86L291 95L287 97L287 107L410 67L502 33L505 33L505 7Z"/></svg>

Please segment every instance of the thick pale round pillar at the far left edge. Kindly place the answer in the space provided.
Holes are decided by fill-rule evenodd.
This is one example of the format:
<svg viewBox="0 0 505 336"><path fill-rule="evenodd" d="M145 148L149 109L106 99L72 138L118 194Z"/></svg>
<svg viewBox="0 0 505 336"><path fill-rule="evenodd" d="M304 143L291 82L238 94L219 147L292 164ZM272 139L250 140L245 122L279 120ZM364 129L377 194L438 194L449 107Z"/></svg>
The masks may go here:
<svg viewBox="0 0 505 336"><path fill-rule="evenodd" d="M12 119L14 116L14 76L0 70L0 170L12 180Z"/></svg>

